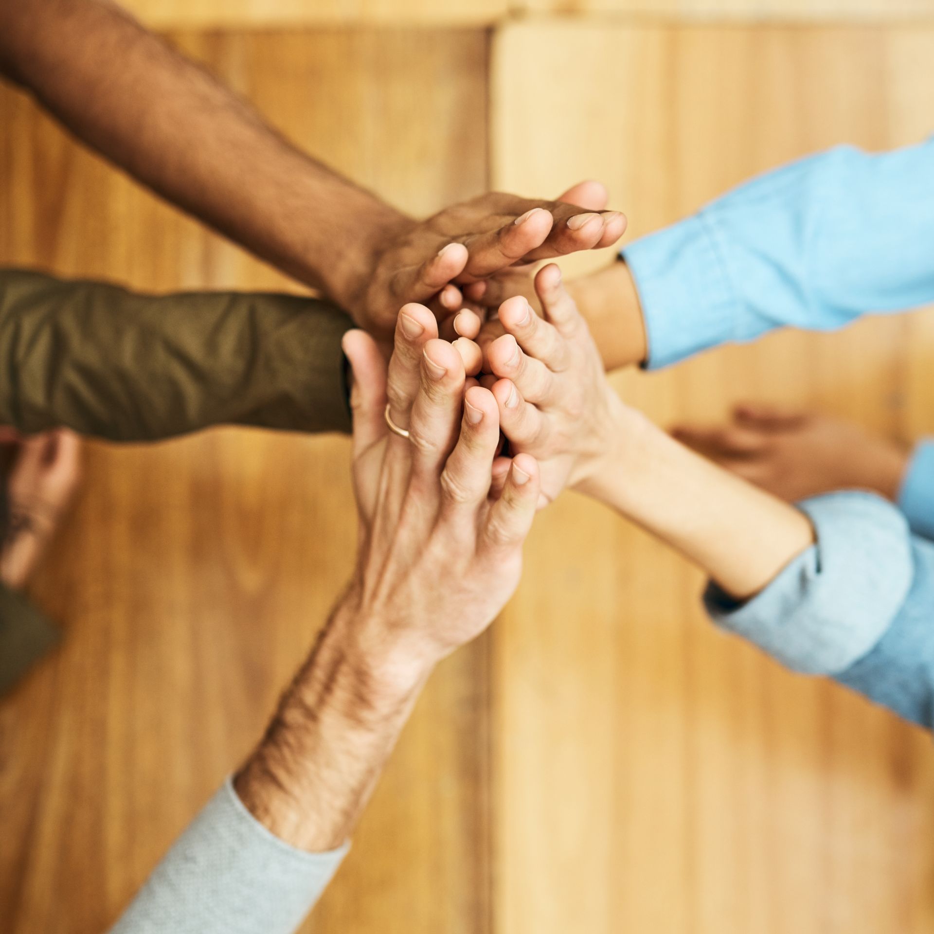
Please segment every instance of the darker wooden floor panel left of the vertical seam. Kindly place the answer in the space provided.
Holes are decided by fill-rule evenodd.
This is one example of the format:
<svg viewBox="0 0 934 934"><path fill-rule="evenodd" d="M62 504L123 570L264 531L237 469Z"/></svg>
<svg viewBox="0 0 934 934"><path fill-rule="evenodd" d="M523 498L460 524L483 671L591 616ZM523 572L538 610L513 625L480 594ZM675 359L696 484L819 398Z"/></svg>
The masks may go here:
<svg viewBox="0 0 934 934"><path fill-rule="evenodd" d="M400 205L486 187L483 33L174 38ZM0 126L0 262L141 289L294 288L6 89ZM88 446L35 582L64 646L0 703L5 932L104 930L258 738L350 572L348 463L344 439L233 430ZM487 652L432 678L305 930L488 931Z"/></svg>

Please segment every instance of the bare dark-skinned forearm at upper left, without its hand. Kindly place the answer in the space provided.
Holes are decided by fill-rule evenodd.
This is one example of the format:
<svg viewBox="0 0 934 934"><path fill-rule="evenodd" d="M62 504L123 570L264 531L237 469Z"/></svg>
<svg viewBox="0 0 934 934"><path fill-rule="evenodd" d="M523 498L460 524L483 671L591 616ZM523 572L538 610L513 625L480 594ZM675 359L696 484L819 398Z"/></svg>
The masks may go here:
<svg viewBox="0 0 934 934"><path fill-rule="evenodd" d="M89 146L345 306L404 220L104 0L6 0L0 62Z"/></svg>

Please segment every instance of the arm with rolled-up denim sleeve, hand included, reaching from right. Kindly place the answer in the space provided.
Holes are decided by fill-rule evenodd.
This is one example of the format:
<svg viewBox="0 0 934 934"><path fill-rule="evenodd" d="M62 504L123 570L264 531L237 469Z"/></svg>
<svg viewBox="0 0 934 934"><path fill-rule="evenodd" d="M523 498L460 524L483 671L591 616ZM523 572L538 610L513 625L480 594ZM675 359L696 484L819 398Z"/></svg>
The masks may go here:
<svg viewBox="0 0 934 934"><path fill-rule="evenodd" d="M486 345L502 430L546 493L570 483L677 548L715 582L715 620L789 667L934 726L934 546L870 494L781 502L625 406L557 274L538 275L547 320L511 299Z"/></svg>

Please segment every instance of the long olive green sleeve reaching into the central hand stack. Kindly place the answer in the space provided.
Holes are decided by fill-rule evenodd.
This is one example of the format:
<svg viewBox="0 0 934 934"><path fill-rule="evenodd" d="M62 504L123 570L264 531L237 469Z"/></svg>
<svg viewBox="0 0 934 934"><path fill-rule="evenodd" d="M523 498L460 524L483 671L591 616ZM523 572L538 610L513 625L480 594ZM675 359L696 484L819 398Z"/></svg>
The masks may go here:
<svg viewBox="0 0 934 934"><path fill-rule="evenodd" d="M0 270L0 424L110 441L211 425L347 432L330 304L292 295L139 295Z"/></svg>

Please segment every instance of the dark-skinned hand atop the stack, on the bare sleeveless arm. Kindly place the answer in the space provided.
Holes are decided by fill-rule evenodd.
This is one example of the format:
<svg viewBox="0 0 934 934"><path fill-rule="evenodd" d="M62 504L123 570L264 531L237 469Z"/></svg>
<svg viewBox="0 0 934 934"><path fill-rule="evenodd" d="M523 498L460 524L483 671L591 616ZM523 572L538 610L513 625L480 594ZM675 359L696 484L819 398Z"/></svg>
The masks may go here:
<svg viewBox="0 0 934 934"><path fill-rule="evenodd" d="M578 192L591 204L606 204L597 182L575 186L562 201ZM395 221L378 234L347 294L335 298L362 328L386 335L405 302L434 300L437 314L452 314L462 299L451 283L477 282L517 262L609 247L625 231L626 218L617 211L492 192L427 220Z"/></svg>

